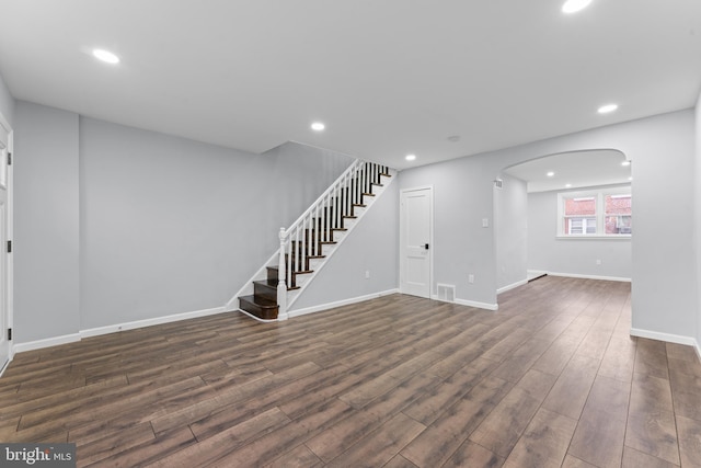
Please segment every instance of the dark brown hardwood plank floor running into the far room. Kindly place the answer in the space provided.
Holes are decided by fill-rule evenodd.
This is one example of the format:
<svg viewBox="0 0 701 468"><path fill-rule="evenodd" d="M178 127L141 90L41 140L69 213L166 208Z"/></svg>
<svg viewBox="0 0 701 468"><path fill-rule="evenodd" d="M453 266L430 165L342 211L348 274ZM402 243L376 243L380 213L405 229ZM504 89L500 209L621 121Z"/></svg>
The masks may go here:
<svg viewBox="0 0 701 468"><path fill-rule="evenodd" d="M701 363L634 339L630 285L543 277L496 312L393 295L15 356L1 442L79 466L699 467Z"/></svg>

